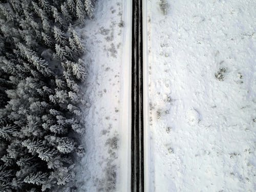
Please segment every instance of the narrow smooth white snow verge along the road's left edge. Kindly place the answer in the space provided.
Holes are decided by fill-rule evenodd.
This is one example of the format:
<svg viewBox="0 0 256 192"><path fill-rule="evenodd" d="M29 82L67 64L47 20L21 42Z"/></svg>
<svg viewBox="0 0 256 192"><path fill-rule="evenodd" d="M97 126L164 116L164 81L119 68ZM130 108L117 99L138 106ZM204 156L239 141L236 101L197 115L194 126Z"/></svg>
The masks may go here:
<svg viewBox="0 0 256 192"><path fill-rule="evenodd" d="M131 188L131 63L132 63L132 1L123 0L123 38L120 79L119 150L120 167L116 191Z"/></svg>

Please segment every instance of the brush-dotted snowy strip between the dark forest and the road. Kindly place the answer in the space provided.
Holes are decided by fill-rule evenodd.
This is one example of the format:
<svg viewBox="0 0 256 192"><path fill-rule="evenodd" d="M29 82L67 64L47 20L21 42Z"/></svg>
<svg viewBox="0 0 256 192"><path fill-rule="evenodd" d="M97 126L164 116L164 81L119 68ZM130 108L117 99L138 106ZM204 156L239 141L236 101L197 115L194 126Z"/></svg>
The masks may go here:
<svg viewBox="0 0 256 192"><path fill-rule="evenodd" d="M80 30L87 49L83 59L88 69L83 98L90 106L81 106L86 126L81 142L86 155L76 176L78 191L116 191L120 180L125 180L127 139L124 140L122 134L127 136L127 133L121 124L129 119L129 114L120 100L124 99L122 92L129 89L124 88L122 77L125 75L122 66L129 60L123 62L124 52L127 54L127 45L123 43L127 42L128 30L122 26L123 6L122 0L97 0L94 18L86 21L85 30Z"/></svg>

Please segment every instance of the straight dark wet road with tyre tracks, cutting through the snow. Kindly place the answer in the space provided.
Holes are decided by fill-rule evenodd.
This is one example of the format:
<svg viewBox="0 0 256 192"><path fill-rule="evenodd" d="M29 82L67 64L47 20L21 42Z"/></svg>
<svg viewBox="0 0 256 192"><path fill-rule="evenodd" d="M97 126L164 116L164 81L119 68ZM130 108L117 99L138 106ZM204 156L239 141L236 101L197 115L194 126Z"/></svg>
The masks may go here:
<svg viewBox="0 0 256 192"><path fill-rule="evenodd" d="M133 0L132 23L132 181L131 191L144 191L142 0Z"/></svg>

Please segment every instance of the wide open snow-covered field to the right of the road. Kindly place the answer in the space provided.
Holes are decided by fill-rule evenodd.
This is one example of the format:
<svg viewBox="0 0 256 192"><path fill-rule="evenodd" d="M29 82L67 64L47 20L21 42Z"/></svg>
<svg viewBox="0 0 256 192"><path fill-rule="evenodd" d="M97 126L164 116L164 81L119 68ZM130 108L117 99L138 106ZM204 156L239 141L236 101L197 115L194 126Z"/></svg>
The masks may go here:
<svg viewBox="0 0 256 192"><path fill-rule="evenodd" d="M159 2L144 1L148 191L256 191L256 2Z"/></svg>

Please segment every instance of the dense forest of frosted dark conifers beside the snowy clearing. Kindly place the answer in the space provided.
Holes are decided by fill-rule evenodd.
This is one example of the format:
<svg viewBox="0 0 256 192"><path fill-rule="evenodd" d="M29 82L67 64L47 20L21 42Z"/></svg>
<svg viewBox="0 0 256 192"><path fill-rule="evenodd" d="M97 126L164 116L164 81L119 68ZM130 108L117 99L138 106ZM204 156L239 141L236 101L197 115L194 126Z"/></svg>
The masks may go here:
<svg viewBox="0 0 256 192"><path fill-rule="evenodd" d="M87 73L75 27L93 7L91 0L1 1L0 191L63 191L74 179Z"/></svg>

